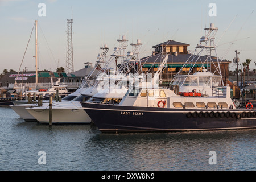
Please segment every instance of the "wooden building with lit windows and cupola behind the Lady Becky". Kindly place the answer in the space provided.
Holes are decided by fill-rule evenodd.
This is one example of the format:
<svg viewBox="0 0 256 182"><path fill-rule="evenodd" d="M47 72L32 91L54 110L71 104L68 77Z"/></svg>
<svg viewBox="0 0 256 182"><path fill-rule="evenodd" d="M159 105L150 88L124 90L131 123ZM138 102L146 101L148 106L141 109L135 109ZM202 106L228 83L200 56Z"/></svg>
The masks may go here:
<svg viewBox="0 0 256 182"><path fill-rule="evenodd" d="M152 55L143 57L141 59L142 72L152 73L152 75L154 75L154 73L158 69L158 65L162 61L162 53L168 54L168 60L166 68L162 73L162 79L164 82L170 82L172 78L174 78L174 75L176 75L177 72L180 71L181 67L183 67L187 60L191 61L191 64L194 64L195 60L197 60L198 58L200 58L201 60L207 59L206 55L200 57L197 55L191 55L191 52L188 51L189 46L190 45L187 43L176 42L174 40L168 40L166 42L153 46L153 48L155 48L155 51L152 53ZM205 67L209 71L214 72L217 67L217 58L211 56L211 59L213 60L213 63L212 61L209 61L204 65L195 64L195 66L192 68L191 74L200 71L202 67ZM231 62L220 59L219 61L221 67L221 75L223 76L224 84L227 84L229 79L229 63ZM191 64L188 64L187 67L183 68L181 74L187 74L191 69ZM216 72L216 75L219 74Z"/></svg>

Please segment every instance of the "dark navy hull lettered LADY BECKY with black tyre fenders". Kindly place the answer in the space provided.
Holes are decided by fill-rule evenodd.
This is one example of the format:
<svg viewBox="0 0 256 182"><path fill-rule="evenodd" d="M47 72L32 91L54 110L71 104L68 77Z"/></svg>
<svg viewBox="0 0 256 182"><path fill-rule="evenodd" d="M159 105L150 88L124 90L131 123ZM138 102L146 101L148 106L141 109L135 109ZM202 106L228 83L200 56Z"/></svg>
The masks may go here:
<svg viewBox="0 0 256 182"><path fill-rule="evenodd" d="M86 102L81 102L81 105L102 132L201 131L256 128L256 110L164 109ZM247 117L249 112L250 116ZM246 116L244 116L245 114Z"/></svg>

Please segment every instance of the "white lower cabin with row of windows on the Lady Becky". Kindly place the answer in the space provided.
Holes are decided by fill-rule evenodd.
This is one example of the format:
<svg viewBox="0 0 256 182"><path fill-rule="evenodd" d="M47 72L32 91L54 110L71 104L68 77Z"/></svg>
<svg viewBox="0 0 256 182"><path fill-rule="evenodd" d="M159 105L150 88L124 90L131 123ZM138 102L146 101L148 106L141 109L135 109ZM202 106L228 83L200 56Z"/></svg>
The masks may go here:
<svg viewBox="0 0 256 182"><path fill-rule="evenodd" d="M224 87L221 95L208 96L175 94L169 88L130 88L119 105L159 107L170 109L236 109L230 98L230 88Z"/></svg>

